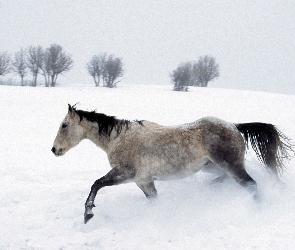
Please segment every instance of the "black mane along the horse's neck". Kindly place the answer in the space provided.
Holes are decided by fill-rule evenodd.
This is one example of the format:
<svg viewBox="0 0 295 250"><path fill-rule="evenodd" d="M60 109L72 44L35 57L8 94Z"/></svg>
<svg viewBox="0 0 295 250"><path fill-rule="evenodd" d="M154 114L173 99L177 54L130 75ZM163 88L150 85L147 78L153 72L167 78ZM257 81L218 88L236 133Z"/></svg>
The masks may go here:
<svg viewBox="0 0 295 250"><path fill-rule="evenodd" d="M108 116L102 113L96 113L95 111L84 111L78 110L72 107L73 110L79 115L80 120L86 119L90 122L96 122L98 124L98 134L100 136L110 136L113 129L116 130L118 134L121 133L122 128L129 128L130 121L117 119L115 116ZM139 122L141 123L141 122Z"/></svg>

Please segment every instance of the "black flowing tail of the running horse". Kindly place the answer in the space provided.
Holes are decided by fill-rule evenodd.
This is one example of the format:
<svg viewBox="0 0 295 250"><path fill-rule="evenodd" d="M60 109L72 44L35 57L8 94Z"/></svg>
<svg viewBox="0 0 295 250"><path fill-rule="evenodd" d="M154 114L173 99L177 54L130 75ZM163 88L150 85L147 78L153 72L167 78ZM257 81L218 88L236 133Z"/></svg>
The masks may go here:
<svg viewBox="0 0 295 250"><path fill-rule="evenodd" d="M249 141L257 158L266 164L276 175L283 172L284 160L294 156L291 140L274 125L266 123L235 124L244 136L249 148Z"/></svg>

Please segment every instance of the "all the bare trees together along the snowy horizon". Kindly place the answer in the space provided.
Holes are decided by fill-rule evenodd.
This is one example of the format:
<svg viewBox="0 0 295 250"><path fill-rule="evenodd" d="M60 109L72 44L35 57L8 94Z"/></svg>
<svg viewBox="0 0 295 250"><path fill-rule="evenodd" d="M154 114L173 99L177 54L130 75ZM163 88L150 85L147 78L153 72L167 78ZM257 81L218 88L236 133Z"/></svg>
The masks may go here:
<svg viewBox="0 0 295 250"><path fill-rule="evenodd" d="M8 52L0 52L0 76L15 73L21 79L21 86L27 85L24 78L30 73L31 86L37 86L38 75L44 77L46 87L55 87L59 75L73 67L73 59L58 44L48 48L29 46L21 48L12 58ZM112 54L98 53L86 63L86 70L95 86L113 88L124 74L122 58ZM170 74L175 91L187 91L189 86L207 87L208 82L219 77L219 65L214 57L205 55L198 61L183 62Z"/></svg>

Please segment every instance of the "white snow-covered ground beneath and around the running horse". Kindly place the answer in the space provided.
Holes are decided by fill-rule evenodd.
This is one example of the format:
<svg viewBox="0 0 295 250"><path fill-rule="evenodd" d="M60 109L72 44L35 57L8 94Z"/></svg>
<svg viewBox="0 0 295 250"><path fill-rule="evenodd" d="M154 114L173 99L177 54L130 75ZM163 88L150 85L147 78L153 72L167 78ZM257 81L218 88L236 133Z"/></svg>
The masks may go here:
<svg viewBox="0 0 295 250"><path fill-rule="evenodd" d="M110 167L88 141L65 156L50 151L67 104L174 125L203 116L277 125L295 139L295 96L172 86L30 88L0 86L0 249L294 249L295 160L277 185L253 153L256 204L236 183L210 185L208 173L156 182L149 201L133 183L99 191L83 223L92 183Z"/></svg>

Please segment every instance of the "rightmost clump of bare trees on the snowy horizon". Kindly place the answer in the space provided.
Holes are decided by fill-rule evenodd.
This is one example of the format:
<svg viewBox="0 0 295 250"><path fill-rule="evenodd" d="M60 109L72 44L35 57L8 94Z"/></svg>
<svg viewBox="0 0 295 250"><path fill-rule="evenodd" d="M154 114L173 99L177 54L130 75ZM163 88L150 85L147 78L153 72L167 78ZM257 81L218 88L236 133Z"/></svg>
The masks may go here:
<svg viewBox="0 0 295 250"><path fill-rule="evenodd" d="M207 87L219 77L219 65L214 57L205 55L198 61L183 62L170 74L175 91L187 91L189 86Z"/></svg>

